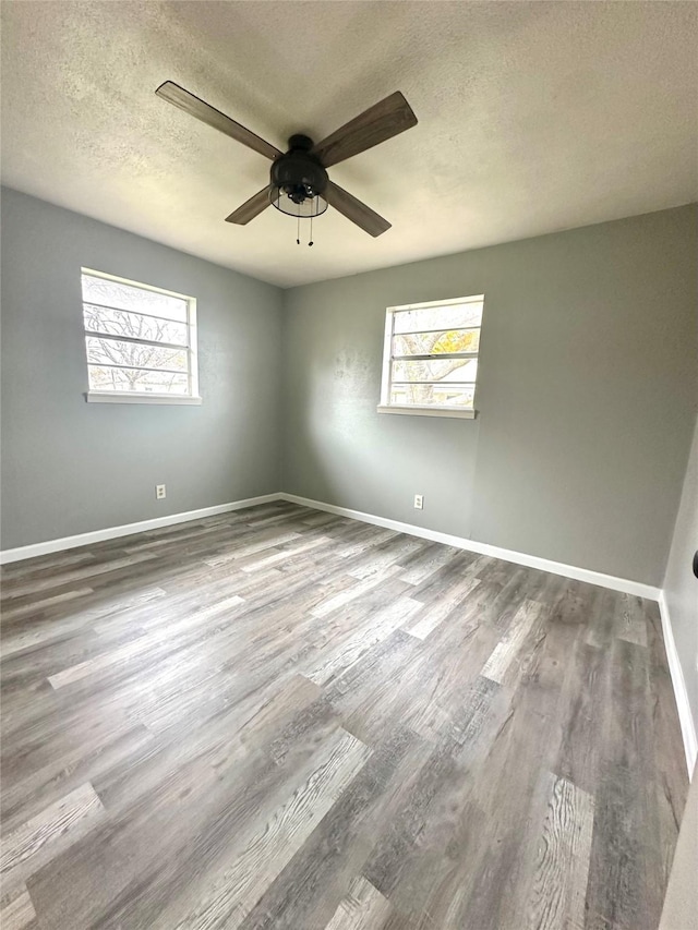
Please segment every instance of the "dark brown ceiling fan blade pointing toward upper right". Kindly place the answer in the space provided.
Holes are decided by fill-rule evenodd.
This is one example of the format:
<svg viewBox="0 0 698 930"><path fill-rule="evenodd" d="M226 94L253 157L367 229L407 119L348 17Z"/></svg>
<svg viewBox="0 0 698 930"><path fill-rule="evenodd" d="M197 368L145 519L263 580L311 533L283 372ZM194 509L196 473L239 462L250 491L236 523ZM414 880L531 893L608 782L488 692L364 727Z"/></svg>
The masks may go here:
<svg viewBox="0 0 698 930"><path fill-rule="evenodd" d="M417 117L412 108L402 94L396 90L318 142L312 149L313 155L320 158L325 168L329 168L414 125Z"/></svg>

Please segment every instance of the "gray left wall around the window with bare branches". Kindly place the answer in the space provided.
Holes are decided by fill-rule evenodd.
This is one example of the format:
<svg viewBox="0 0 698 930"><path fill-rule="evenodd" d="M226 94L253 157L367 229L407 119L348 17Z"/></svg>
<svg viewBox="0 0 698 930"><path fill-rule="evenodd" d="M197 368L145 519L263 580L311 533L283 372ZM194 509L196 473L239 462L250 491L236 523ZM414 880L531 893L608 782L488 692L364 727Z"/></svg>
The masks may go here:
<svg viewBox="0 0 698 930"><path fill-rule="evenodd" d="M81 266L197 299L201 407L85 402ZM277 288L3 190L2 548L278 491L280 312Z"/></svg>

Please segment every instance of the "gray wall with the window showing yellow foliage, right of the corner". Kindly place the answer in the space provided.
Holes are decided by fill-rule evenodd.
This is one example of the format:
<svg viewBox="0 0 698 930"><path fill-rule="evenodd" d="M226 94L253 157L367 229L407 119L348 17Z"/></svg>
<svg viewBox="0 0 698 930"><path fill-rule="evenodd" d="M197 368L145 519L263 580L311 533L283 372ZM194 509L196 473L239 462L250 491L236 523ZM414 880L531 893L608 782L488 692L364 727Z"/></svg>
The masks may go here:
<svg viewBox="0 0 698 930"><path fill-rule="evenodd" d="M285 490L660 584L698 397L696 219L693 205L287 291ZM385 307L477 293L478 419L376 413Z"/></svg>

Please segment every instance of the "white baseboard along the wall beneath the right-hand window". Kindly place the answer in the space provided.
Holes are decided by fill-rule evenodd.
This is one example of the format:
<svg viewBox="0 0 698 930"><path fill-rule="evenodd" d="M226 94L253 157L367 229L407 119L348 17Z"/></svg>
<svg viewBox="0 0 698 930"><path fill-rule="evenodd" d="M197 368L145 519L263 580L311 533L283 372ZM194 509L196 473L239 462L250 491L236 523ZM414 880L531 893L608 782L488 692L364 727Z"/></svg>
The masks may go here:
<svg viewBox="0 0 698 930"><path fill-rule="evenodd" d="M315 510L326 510L328 514L337 514L340 517L351 517L352 520L361 520L364 523L373 523L376 527L385 527L396 530L398 533L409 533L412 536L421 536L435 543L444 543L447 546L468 549L479 555L489 555L493 558L502 558L504 561L513 561L527 568L539 568L541 571L551 571L553 575L562 575L564 578L574 578L576 581L588 581L589 584L599 584L601 588L610 588L612 591L623 591L625 594L637 594L650 601L659 601L660 589L651 584L642 584L639 581L630 581L627 578L615 578L613 575L603 575L601 571L592 571L589 568L577 568L574 565L564 565L561 561L551 561L537 555L527 555L513 549L500 548L489 543L479 543L476 540L467 540L462 536L452 536L449 533L441 533L437 530L428 530L424 527L416 527L412 523L402 523L399 520L388 520L385 517L375 517L373 514L363 514L361 510L350 510L348 507L336 507L334 504L324 504L321 500L311 500L308 497L299 497L297 494L280 494L281 500L293 504L302 504L304 507L313 507Z"/></svg>

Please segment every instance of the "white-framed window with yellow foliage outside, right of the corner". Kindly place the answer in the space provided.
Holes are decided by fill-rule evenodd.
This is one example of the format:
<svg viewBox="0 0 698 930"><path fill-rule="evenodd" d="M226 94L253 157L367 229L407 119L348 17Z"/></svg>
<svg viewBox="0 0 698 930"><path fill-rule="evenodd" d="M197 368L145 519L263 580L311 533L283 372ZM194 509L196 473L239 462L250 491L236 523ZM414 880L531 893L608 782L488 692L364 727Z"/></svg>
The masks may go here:
<svg viewBox="0 0 698 930"><path fill-rule="evenodd" d="M389 306L380 413L473 418L484 297Z"/></svg>

